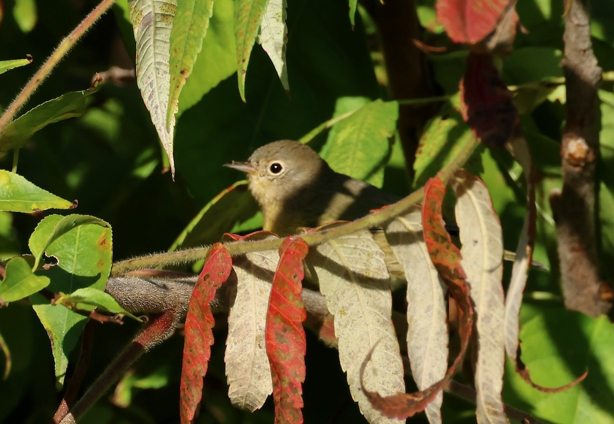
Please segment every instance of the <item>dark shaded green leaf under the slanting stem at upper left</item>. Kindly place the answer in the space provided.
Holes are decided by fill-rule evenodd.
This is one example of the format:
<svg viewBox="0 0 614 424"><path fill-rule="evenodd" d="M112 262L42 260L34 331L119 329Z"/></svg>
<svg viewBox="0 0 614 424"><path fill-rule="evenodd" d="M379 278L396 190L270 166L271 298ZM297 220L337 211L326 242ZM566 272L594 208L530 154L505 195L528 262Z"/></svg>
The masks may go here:
<svg viewBox="0 0 614 424"><path fill-rule="evenodd" d="M88 97L100 89L100 84L88 90L71 91L46 101L18 117L7 125L0 135L0 152L21 148L36 131L52 123L68 118L80 117L89 103Z"/></svg>

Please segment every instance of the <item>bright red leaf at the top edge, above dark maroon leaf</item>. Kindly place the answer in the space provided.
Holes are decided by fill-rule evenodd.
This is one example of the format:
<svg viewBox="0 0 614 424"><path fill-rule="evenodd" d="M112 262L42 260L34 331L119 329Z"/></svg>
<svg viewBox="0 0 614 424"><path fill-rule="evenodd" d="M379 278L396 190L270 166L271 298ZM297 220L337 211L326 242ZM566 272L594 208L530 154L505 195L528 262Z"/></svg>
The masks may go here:
<svg viewBox="0 0 614 424"><path fill-rule="evenodd" d="M510 0L437 0L437 20L455 43L475 44L494 29Z"/></svg>

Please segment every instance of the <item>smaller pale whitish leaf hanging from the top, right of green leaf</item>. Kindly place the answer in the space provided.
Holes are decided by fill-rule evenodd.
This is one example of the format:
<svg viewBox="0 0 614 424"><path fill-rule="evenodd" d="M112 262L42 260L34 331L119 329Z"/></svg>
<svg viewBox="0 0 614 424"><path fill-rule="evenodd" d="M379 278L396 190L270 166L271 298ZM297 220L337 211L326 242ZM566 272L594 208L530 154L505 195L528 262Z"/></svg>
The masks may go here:
<svg viewBox="0 0 614 424"><path fill-rule="evenodd" d="M262 45L279 75L282 87L290 92L286 67L286 0L269 0L262 15L258 44Z"/></svg>

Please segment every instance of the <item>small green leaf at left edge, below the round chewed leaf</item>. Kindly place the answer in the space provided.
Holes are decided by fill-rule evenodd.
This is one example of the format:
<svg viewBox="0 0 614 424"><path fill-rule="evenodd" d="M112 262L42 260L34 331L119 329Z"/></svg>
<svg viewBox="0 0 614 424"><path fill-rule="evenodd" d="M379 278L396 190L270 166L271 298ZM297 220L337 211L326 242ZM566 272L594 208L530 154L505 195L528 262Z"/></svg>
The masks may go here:
<svg viewBox="0 0 614 424"><path fill-rule="evenodd" d="M33 274L28 262L17 256L6 264L6 278L0 282L0 299L14 302L49 285L49 278Z"/></svg>

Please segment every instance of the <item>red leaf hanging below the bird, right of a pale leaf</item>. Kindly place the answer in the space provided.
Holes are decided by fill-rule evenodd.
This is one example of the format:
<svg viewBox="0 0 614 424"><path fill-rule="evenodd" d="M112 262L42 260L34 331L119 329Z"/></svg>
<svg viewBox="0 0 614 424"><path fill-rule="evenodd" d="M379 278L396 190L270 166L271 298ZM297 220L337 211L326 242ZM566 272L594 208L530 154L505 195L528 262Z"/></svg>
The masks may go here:
<svg viewBox="0 0 614 424"><path fill-rule="evenodd" d="M279 247L279 265L266 318L266 353L271 361L275 423L302 423L305 381L305 330L307 317L301 298L303 260L307 244L300 237L287 237Z"/></svg>

